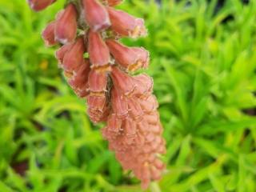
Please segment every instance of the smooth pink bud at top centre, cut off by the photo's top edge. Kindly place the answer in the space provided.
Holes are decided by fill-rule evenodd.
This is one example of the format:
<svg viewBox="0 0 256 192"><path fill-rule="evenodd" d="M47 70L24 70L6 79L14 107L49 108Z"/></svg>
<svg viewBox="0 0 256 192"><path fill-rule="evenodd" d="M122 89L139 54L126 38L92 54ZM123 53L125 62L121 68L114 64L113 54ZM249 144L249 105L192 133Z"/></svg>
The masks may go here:
<svg viewBox="0 0 256 192"><path fill-rule="evenodd" d="M98 0L82 0L86 23L93 31L104 30L110 26L109 14Z"/></svg>

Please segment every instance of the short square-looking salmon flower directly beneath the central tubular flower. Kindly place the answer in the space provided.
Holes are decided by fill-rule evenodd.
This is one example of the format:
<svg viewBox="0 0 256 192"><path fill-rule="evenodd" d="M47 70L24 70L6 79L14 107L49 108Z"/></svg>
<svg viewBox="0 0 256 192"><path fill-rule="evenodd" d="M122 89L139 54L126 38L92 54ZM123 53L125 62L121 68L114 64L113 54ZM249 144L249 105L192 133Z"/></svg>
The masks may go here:
<svg viewBox="0 0 256 192"><path fill-rule="evenodd" d="M106 91L107 74L90 70L89 74L89 90L93 93L102 93Z"/></svg>

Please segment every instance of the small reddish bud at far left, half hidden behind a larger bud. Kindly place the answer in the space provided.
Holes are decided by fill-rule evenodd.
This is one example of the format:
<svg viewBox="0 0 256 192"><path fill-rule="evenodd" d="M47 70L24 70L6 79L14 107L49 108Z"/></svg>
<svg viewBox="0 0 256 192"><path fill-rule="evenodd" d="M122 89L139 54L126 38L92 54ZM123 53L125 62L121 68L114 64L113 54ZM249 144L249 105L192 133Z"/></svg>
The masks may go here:
<svg viewBox="0 0 256 192"><path fill-rule="evenodd" d="M42 31L42 39L44 40L46 46L54 46L55 44L57 44L54 35L55 23L56 22L50 22Z"/></svg>

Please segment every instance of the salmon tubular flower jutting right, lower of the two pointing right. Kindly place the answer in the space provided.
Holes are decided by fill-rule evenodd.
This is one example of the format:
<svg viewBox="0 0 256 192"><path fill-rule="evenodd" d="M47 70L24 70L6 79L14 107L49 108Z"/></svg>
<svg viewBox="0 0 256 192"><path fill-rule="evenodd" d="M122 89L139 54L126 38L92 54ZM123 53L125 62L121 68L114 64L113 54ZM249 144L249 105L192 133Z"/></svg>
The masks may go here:
<svg viewBox="0 0 256 192"><path fill-rule="evenodd" d="M149 52L142 47L124 46L111 39L107 40L106 44L116 62L127 70L134 71L141 67L146 68L149 64Z"/></svg>

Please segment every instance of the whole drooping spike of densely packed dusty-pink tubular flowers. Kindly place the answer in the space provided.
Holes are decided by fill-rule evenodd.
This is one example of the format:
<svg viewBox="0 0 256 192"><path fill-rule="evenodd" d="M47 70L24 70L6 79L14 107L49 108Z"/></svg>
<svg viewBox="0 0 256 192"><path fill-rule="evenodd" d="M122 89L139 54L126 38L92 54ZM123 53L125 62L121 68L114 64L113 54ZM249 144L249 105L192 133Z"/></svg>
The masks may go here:
<svg viewBox="0 0 256 192"><path fill-rule="evenodd" d="M28 0L43 10L55 0ZM122 37L146 35L142 18L134 18L113 6L122 0L73 0L58 12L42 32L47 46L62 45L56 52L67 82L86 98L93 122L106 122L102 135L126 170L133 170L146 188L161 178L166 152L153 80L132 75L149 65L142 47L122 45ZM85 56L87 53L87 56Z"/></svg>

